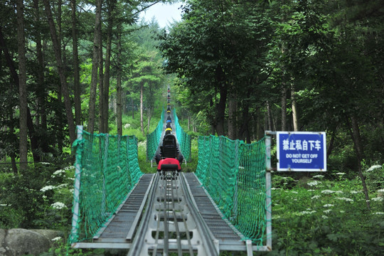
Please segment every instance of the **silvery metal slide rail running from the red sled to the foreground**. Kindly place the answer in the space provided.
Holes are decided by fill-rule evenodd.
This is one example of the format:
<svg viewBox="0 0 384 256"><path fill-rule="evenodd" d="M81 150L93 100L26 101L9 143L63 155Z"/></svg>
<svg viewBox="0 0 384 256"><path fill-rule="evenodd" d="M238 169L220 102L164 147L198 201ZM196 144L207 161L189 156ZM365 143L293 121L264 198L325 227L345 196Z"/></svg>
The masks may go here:
<svg viewBox="0 0 384 256"><path fill-rule="evenodd" d="M129 256L218 255L216 240L188 194L181 173L157 173ZM217 245L217 246L216 246Z"/></svg>

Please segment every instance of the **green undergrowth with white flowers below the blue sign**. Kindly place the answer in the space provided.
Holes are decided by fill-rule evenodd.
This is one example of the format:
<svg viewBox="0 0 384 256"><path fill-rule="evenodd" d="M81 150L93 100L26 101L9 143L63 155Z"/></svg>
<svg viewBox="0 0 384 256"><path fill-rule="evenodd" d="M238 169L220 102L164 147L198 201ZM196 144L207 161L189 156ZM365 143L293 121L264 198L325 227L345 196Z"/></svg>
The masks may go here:
<svg viewBox="0 0 384 256"><path fill-rule="evenodd" d="M272 174L272 183L288 181L290 188L273 186L273 250L256 255L380 255L384 197L370 193L368 211L358 178L338 176L329 181L315 175L304 188L292 177Z"/></svg>

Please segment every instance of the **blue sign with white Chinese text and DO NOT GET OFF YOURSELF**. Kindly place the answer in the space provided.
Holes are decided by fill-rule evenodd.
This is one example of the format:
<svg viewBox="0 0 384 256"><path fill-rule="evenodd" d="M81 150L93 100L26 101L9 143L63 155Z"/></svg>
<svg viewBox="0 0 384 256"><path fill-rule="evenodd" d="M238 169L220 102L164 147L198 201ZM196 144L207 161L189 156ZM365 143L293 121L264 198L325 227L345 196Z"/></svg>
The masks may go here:
<svg viewBox="0 0 384 256"><path fill-rule="evenodd" d="M325 132L277 132L277 171L326 171Z"/></svg>

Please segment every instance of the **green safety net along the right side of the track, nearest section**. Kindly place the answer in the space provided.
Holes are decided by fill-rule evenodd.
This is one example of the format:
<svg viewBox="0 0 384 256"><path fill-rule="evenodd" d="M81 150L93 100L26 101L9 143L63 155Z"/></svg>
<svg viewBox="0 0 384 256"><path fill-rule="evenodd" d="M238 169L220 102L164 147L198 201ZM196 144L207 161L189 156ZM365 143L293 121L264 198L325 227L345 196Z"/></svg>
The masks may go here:
<svg viewBox="0 0 384 256"><path fill-rule="evenodd" d="M226 137L198 138L196 176L225 218L245 239L267 239L267 187L264 139L252 144Z"/></svg>

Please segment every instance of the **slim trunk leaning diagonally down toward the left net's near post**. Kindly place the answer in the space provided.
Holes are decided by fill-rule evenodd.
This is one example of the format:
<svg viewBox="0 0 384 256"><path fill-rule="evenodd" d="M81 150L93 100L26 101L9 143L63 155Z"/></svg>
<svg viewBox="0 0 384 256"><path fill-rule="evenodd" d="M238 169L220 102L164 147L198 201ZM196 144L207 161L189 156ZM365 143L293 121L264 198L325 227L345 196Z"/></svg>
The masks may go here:
<svg viewBox="0 0 384 256"><path fill-rule="evenodd" d="M50 4L48 0L43 0L43 2L44 2L44 6L46 7L46 14L47 14L48 23L49 23L50 36L52 37L53 49L55 51L56 63L58 65L60 85L64 95L65 113L67 114L70 143L72 144L72 142L74 142L76 139L75 122L72 114L72 106L70 103L67 80L65 78L65 70L64 70L63 62L61 60L61 55L60 55L60 45L59 45L58 37L56 35L55 24L53 23L52 12L50 11Z"/></svg>

